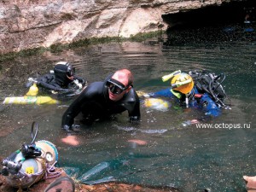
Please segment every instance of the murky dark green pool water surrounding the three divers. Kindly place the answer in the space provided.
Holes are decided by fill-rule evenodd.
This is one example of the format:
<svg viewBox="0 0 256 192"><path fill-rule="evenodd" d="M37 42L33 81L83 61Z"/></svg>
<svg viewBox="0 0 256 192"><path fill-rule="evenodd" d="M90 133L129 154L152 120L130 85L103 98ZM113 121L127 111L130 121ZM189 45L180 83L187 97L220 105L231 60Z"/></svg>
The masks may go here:
<svg viewBox="0 0 256 192"><path fill-rule="evenodd" d="M223 110L218 118L206 118L201 111L181 108L172 100L167 101L171 107L166 112L145 108L142 101L140 125L130 125L127 113L91 127L81 125L74 135L79 145L73 147L61 142L67 133L60 127L61 115L72 100L49 106L1 105L1 154L8 156L22 143L30 142L30 127L35 120L39 125L38 140L55 143L59 166L82 183L117 181L183 191L245 191L242 176L255 175L256 170L256 45L244 39L211 44L171 41L160 37L142 43L98 44L6 61L0 63L0 96L23 96L26 79L35 73L48 73L57 61L73 63L78 75L89 83L128 67L134 73L135 89L143 92L168 87L161 77L174 70L206 69L226 74L224 87L232 110ZM183 126L188 119L250 127Z"/></svg>

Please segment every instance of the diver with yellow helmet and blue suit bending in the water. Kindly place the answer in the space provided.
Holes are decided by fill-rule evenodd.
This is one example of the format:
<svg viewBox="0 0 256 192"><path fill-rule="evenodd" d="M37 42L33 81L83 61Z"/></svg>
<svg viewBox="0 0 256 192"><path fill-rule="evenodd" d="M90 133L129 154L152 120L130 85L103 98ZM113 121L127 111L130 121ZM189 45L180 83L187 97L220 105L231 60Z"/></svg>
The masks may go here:
<svg viewBox="0 0 256 192"><path fill-rule="evenodd" d="M229 108L224 104L227 97L221 83L224 74L189 72L181 73L180 70L162 77L163 81L171 80L172 88L160 90L148 96L177 97L178 102L186 108L201 108L206 114L218 116L220 108ZM219 79L221 81L219 82Z"/></svg>

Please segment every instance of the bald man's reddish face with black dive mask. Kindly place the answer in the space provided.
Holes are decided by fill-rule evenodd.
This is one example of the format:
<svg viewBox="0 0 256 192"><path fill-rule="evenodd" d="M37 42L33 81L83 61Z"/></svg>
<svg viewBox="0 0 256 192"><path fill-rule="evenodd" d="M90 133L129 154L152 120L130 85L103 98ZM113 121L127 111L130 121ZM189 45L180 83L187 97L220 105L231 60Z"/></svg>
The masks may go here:
<svg viewBox="0 0 256 192"><path fill-rule="evenodd" d="M112 79L107 82L108 86L108 96L109 99L117 102L119 101L126 92L131 90L131 85L128 84L128 79L126 76L114 73Z"/></svg>

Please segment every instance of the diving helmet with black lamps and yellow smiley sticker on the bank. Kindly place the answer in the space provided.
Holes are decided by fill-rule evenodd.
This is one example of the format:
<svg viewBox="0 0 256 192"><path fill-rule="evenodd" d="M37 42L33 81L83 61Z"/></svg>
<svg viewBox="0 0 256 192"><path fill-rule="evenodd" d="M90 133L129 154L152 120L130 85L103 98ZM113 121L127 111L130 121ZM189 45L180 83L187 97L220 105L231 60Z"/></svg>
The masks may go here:
<svg viewBox="0 0 256 192"><path fill-rule="evenodd" d="M36 128L35 134L33 133ZM32 123L32 143L23 144L20 149L2 161L2 175L10 186L25 189L30 188L42 178L58 177L61 172L53 172L58 160L58 151L53 143L48 141L35 142L38 124Z"/></svg>

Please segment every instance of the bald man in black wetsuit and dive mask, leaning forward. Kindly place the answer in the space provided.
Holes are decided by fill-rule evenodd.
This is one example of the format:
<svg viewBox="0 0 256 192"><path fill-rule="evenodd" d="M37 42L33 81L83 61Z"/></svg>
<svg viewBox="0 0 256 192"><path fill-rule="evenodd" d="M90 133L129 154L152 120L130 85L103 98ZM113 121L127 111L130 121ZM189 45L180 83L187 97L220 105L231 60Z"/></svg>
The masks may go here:
<svg viewBox="0 0 256 192"><path fill-rule="evenodd" d="M91 123L112 114L128 111L130 120L140 119L140 102L132 88L132 75L121 69L105 82L94 82L80 94L62 116L61 127L73 128L74 118L83 113L84 122Z"/></svg>

